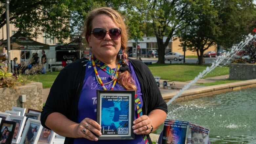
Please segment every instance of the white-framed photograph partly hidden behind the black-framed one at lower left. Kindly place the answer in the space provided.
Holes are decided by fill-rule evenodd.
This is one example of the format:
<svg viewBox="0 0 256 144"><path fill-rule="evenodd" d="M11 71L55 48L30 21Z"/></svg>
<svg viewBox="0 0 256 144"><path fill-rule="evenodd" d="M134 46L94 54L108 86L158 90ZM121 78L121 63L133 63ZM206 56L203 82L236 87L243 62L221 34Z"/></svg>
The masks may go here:
<svg viewBox="0 0 256 144"><path fill-rule="evenodd" d="M19 115L10 115L9 121L16 122L16 125L14 126L14 133L12 136L12 143L18 143L19 139L21 138L21 134L23 131L23 127L26 121L25 116L19 116Z"/></svg>

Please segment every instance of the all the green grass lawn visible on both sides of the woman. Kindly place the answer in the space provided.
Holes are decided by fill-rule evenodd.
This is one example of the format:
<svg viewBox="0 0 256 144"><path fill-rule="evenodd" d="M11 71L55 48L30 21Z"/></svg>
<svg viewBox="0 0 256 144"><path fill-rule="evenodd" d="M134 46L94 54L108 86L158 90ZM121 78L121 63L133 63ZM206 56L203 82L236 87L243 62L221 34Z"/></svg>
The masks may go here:
<svg viewBox="0 0 256 144"><path fill-rule="evenodd" d="M203 72L207 66L210 65L193 65L193 64L153 64L149 65L150 71L154 76L160 76L161 79L168 81L189 81L193 80L199 72ZM31 81L43 83L43 88L51 88L59 71L46 74L28 75L27 78ZM229 73L228 67L217 67L215 70L206 75L206 77L213 77L225 75Z"/></svg>

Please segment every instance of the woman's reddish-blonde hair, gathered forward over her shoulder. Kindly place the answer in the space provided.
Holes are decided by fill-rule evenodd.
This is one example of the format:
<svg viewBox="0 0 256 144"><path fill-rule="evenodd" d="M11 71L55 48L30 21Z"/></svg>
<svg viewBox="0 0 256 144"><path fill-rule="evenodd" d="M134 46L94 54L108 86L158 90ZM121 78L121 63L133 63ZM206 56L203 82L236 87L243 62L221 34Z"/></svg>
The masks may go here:
<svg viewBox="0 0 256 144"><path fill-rule="evenodd" d="M87 15L87 18L84 23L84 30L82 31L82 36L85 37L86 41L88 42L88 37L92 32L92 22L93 19L100 15L106 14L112 18L114 23L121 29L121 49L123 51L123 57L127 60L127 40L128 40L128 33L126 25L123 21L124 16L122 16L116 10L107 7L101 7L90 11ZM89 42L88 42L89 43ZM122 85L126 90L137 90L134 80L132 79L131 74L128 71L124 71L120 73L117 77L117 82Z"/></svg>

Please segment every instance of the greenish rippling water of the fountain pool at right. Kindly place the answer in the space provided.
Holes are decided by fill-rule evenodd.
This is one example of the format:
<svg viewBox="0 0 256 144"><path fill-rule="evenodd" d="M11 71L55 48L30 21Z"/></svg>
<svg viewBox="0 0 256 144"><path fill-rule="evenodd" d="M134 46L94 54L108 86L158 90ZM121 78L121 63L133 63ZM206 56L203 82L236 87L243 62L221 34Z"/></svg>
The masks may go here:
<svg viewBox="0 0 256 144"><path fill-rule="evenodd" d="M212 144L255 144L256 89L172 103L167 118L209 128ZM162 127L157 133L161 130Z"/></svg>

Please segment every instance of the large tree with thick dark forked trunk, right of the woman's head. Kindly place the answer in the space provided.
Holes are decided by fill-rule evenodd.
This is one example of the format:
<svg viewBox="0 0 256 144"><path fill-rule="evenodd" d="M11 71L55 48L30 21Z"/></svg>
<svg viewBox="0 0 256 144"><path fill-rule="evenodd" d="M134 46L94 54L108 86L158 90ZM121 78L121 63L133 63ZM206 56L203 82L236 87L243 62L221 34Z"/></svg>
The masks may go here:
<svg viewBox="0 0 256 144"><path fill-rule="evenodd" d="M141 0L137 3L126 3L125 9L135 11L140 21L152 24L158 44L158 62L164 63L165 49L173 36L178 35L183 20L189 16L190 0ZM145 16L145 17L143 17ZM163 41L163 37L167 39Z"/></svg>

